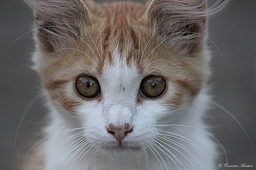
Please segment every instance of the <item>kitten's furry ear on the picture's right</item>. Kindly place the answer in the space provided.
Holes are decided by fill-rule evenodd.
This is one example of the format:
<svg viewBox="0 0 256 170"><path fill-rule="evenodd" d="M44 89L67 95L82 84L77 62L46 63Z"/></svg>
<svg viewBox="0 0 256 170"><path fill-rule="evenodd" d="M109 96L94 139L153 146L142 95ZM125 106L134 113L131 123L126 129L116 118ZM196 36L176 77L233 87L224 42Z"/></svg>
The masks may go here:
<svg viewBox="0 0 256 170"><path fill-rule="evenodd" d="M191 52L206 35L206 0L153 0L147 19L166 41Z"/></svg>

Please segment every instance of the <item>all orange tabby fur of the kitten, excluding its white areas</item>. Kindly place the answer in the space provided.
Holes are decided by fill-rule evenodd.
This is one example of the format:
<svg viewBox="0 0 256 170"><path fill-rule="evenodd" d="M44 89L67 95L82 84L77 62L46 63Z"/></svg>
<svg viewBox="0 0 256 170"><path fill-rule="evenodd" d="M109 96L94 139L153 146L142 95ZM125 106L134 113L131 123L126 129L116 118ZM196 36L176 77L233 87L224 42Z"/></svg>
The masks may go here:
<svg viewBox="0 0 256 170"><path fill-rule="evenodd" d="M80 18L76 18L76 15L68 18L76 18L76 27L72 23L56 23L57 31L54 27L51 28L54 33L64 32L69 36L68 40L49 34L47 31L50 28L47 26L51 25L44 24L44 14L36 14L36 27L39 29L35 33L38 51L34 58L34 68L39 73L52 103L76 115L73 110L81 106L84 99L68 97L76 96L76 92L70 91L73 88L70 80L75 81L81 76L77 73L99 77L104 64L113 64L116 48L128 66L136 65L141 77L158 75L174 84L175 93L172 97L162 96L164 104L175 109L185 101L192 100L210 75L207 67L209 59L205 57L208 56L205 45L206 14L203 14L206 4L195 4L198 5L198 17L193 18L191 15L191 20L177 20L178 24L174 24L177 27L174 26L170 33L166 33L165 30L173 25L167 24L168 13L160 15L157 12L160 8L157 6L159 2L160 0L156 0L146 5L133 2L78 2L75 5L79 5L77 11L81 12L81 15L78 14ZM176 22L175 16L171 19ZM180 22L180 25L187 24L188 27L179 26ZM41 26L45 29L40 28ZM158 29L160 35L156 33ZM173 37L166 39L166 35L169 37L171 34ZM101 98L98 100L100 102ZM142 103L143 100L138 97L137 104ZM43 149L42 152L37 151L25 169L34 169L43 154ZM38 168L40 169L39 166Z"/></svg>

